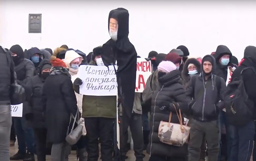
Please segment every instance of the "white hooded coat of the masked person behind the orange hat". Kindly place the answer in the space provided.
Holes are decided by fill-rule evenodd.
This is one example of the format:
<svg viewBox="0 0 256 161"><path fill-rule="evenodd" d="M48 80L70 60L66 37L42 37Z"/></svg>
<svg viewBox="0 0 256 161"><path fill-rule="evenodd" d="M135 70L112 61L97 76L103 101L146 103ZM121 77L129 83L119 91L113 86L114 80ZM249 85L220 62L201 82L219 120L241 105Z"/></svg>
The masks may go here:
<svg viewBox="0 0 256 161"><path fill-rule="evenodd" d="M76 80L76 78L78 78L78 75L77 75L78 69L71 68L70 64L71 64L71 61L73 61L73 60L75 60L77 58L82 59L82 56L77 54L76 51L69 50L65 54L64 62L66 64L67 68L69 69L69 74L71 75L72 83ZM82 109L83 95L78 94L77 92L75 92L75 94L76 94L77 107L79 109L79 112L82 114L83 113L83 109ZM80 118L80 120L82 121L82 120L84 120L84 118ZM83 125L83 133L82 133L82 135L86 135L86 129L85 129L84 122L81 123L81 124Z"/></svg>

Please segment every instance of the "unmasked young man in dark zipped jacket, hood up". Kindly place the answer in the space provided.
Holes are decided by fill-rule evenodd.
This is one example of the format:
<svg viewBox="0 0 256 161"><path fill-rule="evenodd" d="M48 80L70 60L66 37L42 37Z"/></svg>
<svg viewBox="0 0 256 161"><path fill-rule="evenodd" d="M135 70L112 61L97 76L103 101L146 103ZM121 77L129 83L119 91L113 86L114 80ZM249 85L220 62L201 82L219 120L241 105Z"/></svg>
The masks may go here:
<svg viewBox="0 0 256 161"><path fill-rule="evenodd" d="M219 112L224 108L225 81L214 74L216 62L212 55L202 59L202 72L188 82L186 95L191 99L191 123L188 161L199 161L200 147L205 135L209 161L217 161L219 154ZM219 101L221 100L221 101Z"/></svg>

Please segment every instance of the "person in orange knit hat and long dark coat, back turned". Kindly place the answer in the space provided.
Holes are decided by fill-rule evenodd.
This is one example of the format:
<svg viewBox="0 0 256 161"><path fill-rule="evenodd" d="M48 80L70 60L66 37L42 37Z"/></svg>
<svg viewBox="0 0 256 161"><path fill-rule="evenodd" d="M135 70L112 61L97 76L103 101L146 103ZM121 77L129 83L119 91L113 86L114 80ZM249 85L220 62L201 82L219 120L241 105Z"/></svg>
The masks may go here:
<svg viewBox="0 0 256 161"><path fill-rule="evenodd" d="M56 56L51 56L50 62L50 76L45 79L42 92L47 141L52 143L51 161L64 161L68 160L71 150L65 141L67 133L70 133L68 129L71 130L73 125L70 123L70 116L75 116L78 108L66 64Z"/></svg>

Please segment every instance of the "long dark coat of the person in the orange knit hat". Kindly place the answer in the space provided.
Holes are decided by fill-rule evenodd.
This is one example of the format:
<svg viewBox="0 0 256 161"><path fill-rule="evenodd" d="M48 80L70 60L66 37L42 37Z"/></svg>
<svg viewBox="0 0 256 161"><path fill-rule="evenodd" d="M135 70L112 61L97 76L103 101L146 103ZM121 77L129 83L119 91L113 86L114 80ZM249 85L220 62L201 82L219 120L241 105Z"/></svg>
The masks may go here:
<svg viewBox="0 0 256 161"><path fill-rule="evenodd" d="M63 143L65 141L70 115L75 116L78 109L76 104L76 95L70 77L59 74L50 75L45 79L42 105L46 111L48 142Z"/></svg>

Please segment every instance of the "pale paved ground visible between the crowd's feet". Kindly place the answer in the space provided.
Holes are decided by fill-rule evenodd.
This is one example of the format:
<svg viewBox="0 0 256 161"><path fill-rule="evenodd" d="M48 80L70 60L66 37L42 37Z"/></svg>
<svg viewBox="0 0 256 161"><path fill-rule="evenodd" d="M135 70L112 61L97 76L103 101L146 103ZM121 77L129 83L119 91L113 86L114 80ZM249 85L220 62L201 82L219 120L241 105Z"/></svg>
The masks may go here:
<svg viewBox="0 0 256 161"><path fill-rule="evenodd" d="M16 152L18 151L18 145L16 144L14 147L10 147L10 156L13 156ZM144 158L144 161L149 161L149 155L146 154L146 151L144 151L146 157ZM133 151L129 151L128 152L128 159L126 159L126 161L135 161L135 157L134 157L134 152ZM50 161L50 156L47 156L47 161ZM71 152L71 155L69 156L69 161L77 161L76 160L76 152L75 151L72 151ZM101 161L99 159L99 161ZM207 161L207 160L206 160ZM253 161L252 160L252 157L251 157L251 160L250 161Z"/></svg>

